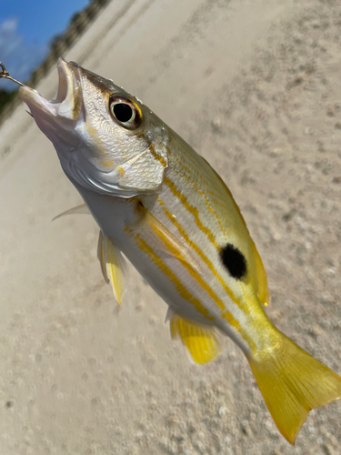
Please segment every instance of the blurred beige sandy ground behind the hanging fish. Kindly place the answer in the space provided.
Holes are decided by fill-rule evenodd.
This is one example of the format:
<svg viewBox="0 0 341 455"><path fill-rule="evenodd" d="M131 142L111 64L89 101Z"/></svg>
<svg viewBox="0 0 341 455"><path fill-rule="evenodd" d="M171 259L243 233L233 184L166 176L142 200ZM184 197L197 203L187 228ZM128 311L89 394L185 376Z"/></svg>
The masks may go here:
<svg viewBox="0 0 341 455"><path fill-rule="evenodd" d="M341 3L114 0L65 56L143 99L219 170L277 327L341 373ZM13 75L15 76L15 75ZM56 71L39 91L53 97ZM88 216L20 106L0 129L0 453L340 453L341 402L291 447L229 339L205 367L130 269L117 308Z"/></svg>

